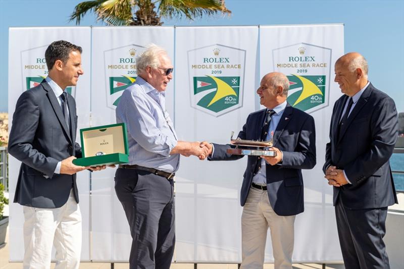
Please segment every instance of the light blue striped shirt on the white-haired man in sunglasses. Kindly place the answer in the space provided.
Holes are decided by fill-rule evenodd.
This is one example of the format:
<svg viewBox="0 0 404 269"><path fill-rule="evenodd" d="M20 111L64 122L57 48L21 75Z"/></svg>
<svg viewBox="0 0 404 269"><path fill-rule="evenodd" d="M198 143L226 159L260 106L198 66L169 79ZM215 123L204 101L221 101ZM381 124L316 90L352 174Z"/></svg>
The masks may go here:
<svg viewBox="0 0 404 269"><path fill-rule="evenodd" d="M177 171L180 154L171 154L177 135L166 111L165 92L141 77L126 88L116 109L117 123L128 129L129 164Z"/></svg>

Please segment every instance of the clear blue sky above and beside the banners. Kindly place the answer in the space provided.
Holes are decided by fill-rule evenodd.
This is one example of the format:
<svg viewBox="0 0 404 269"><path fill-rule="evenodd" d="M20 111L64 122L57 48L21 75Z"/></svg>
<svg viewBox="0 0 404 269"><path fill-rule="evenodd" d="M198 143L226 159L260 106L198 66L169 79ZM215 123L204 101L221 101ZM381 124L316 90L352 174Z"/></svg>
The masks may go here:
<svg viewBox="0 0 404 269"><path fill-rule="evenodd" d="M76 0L0 0L0 112L8 110L8 29L72 26ZM257 1L226 0L231 16L163 20L164 25L276 25L343 23L345 52L358 51L369 62L369 80L394 98L404 112L404 0ZM103 25L88 14L81 26Z"/></svg>

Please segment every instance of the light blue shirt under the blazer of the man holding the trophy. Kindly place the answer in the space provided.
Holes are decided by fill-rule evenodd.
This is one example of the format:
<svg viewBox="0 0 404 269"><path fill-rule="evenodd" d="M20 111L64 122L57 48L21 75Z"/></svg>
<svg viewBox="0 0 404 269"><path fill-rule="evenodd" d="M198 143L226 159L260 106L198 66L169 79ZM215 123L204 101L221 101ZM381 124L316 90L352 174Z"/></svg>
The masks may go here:
<svg viewBox="0 0 404 269"><path fill-rule="evenodd" d="M267 135L266 141L271 140L272 134L275 132L276 127L278 127L278 123L282 118L283 112L286 109L286 101L274 107L273 111L275 113L271 117L271 121L269 122L269 132ZM262 123L264 125L264 122ZM252 178L252 182L259 185L267 185L267 171L266 171L266 162L264 158L261 158L261 168L258 170L258 173Z"/></svg>

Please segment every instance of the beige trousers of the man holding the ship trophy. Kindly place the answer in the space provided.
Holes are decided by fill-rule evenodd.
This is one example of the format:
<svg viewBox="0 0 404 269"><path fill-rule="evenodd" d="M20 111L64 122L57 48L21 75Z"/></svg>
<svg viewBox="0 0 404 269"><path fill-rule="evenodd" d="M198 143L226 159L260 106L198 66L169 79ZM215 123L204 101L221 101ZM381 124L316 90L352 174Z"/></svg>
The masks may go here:
<svg viewBox="0 0 404 269"><path fill-rule="evenodd" d="M271 231L275 268L292 268L294 219L278 216L267 191L251 187L241 216L241 269L262 269L268 228Z"/></svg>

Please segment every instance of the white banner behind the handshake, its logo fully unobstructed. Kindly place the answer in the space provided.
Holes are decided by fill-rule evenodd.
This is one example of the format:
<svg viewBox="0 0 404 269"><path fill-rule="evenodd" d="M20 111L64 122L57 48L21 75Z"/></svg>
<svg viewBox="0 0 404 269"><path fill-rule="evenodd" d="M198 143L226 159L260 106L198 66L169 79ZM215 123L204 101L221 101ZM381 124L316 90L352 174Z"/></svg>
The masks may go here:
<svg viewBox="0 0 404 269"><path fill-rule="evenodd" d="M175 129L180 140L230 141L255 111L258 27L176 28ZM181 157L176 261L241 260L239 189L246 158Z"/></svg>

